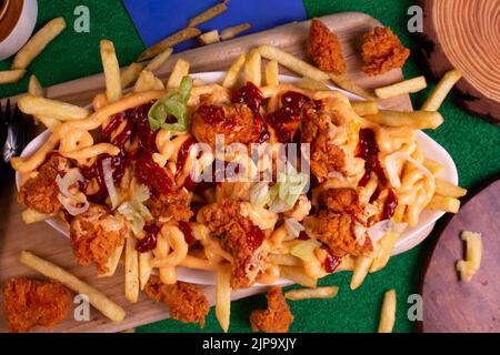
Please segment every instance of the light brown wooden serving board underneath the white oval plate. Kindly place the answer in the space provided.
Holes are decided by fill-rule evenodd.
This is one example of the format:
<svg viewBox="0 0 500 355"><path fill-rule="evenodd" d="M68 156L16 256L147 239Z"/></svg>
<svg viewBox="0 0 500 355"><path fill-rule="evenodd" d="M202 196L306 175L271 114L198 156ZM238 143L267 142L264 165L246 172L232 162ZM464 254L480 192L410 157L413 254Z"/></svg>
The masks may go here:
<svg viewBox="0 0 500 355"><path fill-rule="evenodd" d="M340 38L343 43L343 54L348 63L348 77L354 79L366 89L372 89L402 80L401 70L392 70L383 75L368 78L361 72L359 58L359 40L374 26L380 26L376 19L358 12L346 12L321 18ZM167 78L177 58L182 57L191 63L191 72L227 70L231 62L241 53L260 44L274 44L293 54L304 57L304 45L309 23L289 23L276 29L241 37L231 41L197 48L172 58L158 70L160 78ZM281 69L280 69L281 70ZM284 71L283 71L284 72ZM49 98L87 105L98 92L102 92L104 81L102 75L93 75L48 88ZM381 101L386 108L394 110L411 110L408 95ZM80 267L76 264L69 241L46 223L24 225L21 221L22 207L16 202L13 182L0 197L0 284L13 276L38 276L17 261L22 250L29 250L49 261L74 273L89 284L98 287L111 300L127 311L126 320L113 324L92 310L89 322L76 322L72 314L58 324L53 332L119 332L141 324L152 323L168 317L167 308L141 295L136 304L129 303L123 295L123 270L119 267L110 278L97 278L93 267ZM241 298L263 292L262 287L253 287L233 293L233 298ZM214 303L213 287L204 287L211 304ZM0 305L1 306L1 305ZM6 332L3 312L0 312L0 332ZM44 331L37 328L37 331Z"/></svg>

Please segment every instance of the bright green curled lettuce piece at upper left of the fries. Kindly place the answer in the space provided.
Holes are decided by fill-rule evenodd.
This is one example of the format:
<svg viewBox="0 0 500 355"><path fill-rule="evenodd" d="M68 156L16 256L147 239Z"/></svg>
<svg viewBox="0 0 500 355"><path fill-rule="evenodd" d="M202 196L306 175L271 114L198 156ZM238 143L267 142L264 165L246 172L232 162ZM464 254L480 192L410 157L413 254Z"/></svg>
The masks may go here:
<svg viewBox="0 0 500 355"><path fill-rule="evenodd" d="M159 99L149 109L148 120L151 130L167 128L172 132L186 132L189 128L188 100L191 94L192 79L182 78L179 90ZM167 118L173 115L176 123L166 123Z"/></svg>

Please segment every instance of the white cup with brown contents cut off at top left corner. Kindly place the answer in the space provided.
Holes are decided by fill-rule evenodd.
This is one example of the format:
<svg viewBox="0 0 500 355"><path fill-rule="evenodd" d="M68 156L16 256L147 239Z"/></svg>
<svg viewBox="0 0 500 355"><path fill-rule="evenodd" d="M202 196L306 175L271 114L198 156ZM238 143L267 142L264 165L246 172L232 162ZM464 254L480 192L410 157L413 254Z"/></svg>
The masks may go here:
<svg viewBox="0 0 500 355"><path fill-rule="evenodd" d="M0 41L0 60L17 53L30 39L37 16L37 0L0 0L0 33L4 32Z"/></svg>

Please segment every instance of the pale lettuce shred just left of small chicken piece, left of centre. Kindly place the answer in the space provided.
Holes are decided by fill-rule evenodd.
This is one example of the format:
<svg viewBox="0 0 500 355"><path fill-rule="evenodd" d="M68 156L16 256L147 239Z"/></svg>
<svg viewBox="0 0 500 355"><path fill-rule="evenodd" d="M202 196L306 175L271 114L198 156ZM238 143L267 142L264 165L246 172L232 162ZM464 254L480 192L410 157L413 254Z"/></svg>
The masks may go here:
<svg viewBox="0 0 500 355"><path fill-rule="evenodd" d="M144 227L146 221L153 219L151 212L144 205L149 200L149 190L144 185L140 185L131 201L123 202L118 212L121 213L127 221L130 222L133 234L139 234Z"/></svg>

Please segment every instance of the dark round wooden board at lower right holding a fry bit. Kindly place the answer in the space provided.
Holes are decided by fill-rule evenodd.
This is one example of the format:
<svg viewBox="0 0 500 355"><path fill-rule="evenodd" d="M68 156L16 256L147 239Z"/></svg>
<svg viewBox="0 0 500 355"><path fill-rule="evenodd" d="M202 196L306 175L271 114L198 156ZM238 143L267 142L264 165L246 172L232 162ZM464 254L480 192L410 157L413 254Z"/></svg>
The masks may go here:
<svg viewBox="0 0 500 355"><path fill-rule="evenodd" d="M462 231L482 234L481 267L469 283L456 270L464 258ZM477 193L451 217L423 276L426 333L500 332L500 179Z"/></svg>

